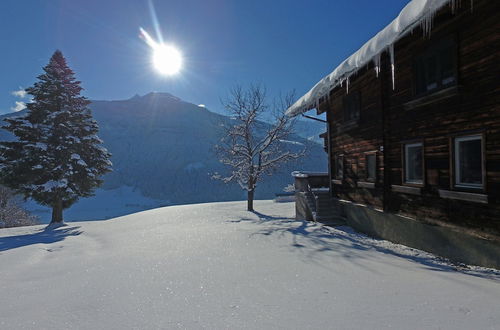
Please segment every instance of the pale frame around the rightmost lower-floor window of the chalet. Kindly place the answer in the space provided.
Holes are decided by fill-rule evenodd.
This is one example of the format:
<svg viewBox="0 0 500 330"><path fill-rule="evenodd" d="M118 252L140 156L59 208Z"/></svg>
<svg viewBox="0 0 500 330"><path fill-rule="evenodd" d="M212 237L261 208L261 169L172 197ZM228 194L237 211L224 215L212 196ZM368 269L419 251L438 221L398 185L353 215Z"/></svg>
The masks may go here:
<svg viewBox="0 0 500 330"><path fill-rule="evenodd" d="M462 141L481 141L481 184L463 183L460 181L460 155L459 143ZM484 133L457 135L451 139L451 169L452 187L454 190L485 191L486 190L486 158L485 158L485 136Z"/></svg>

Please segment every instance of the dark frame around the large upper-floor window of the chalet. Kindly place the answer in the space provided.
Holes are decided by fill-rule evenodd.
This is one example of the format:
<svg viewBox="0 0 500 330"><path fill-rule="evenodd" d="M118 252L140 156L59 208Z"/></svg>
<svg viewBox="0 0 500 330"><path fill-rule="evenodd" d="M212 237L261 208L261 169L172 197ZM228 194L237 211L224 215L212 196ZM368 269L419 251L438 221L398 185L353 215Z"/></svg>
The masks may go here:
<svg viewBox="0 0 500 330"><path fill-rule="evenodd" d="M436 69L436 87L432 88L430 90L419 90L419 76L420 76L420 71L423 66L426 65L425 59L429 59L430 57L434 56L436 59L439 58L440 53L446 49L447 47L451 48L451 54L452 54L452 67L453 67L453 81L443 84L443 78L442 78L442 62L437 60L435 69ZM443 89L447 89L453 86L458 85L458 42L457 42L457 37L455 35L448 35L442 38L439 38L435 40L434 42L430 43L429 46L418 53L413 59L413 94L416 97L422 97L430 94L434 94L438 91L441 91ZM427 79L427 74L428 70L424 70L424 82Z"/></svg>

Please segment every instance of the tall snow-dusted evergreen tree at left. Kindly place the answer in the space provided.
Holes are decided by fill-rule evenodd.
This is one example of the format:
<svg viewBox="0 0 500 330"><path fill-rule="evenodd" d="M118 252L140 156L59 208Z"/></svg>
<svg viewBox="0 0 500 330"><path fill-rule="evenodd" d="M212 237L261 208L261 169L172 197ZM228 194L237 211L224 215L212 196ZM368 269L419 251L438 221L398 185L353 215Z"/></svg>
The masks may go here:
<svg viewBox="0 0 500 330"><path fill-rule="evenodd" d="M64 209L92 196L112 164L63 54L57 50L43 70L26 89L33 96L26 114L5 119L3 128L17 139L0 143L1 177L17 193L52 207L52 223L59 223Z"/></svg>

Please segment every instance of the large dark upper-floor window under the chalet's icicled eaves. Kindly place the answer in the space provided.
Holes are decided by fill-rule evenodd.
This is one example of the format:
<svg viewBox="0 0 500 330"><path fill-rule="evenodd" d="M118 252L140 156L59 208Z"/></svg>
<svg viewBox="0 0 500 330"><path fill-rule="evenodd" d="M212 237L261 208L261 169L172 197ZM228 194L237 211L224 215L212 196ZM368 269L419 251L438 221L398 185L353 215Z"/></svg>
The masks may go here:
<svg viewBox="0 0 500 330"><path fill-rule="evenodd" d="M416 58L415 80L417 95L456 83L456 47L451 38L432 46Z"/></svg>

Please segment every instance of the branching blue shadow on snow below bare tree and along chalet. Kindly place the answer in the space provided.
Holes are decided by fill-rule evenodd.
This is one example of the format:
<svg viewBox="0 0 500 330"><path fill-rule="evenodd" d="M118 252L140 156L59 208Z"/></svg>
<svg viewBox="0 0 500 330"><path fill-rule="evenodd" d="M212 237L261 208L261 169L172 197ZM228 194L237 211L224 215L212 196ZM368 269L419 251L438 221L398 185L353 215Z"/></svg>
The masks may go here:
<svg viewBox="0 0 500 330"><path fill-rule="evenodd" d="M302 253L308 262L315 262L322 267L327 267L324 259L325 255L327 255L332 257L332 264L329 266L334 266L335 260L333 258L341 257L343 260L348 260L362 268L377 272L373 268L370 269L368 264L364 262L368 259L377 258L376 254L368 253L369 251L377 251L385 255L416 262L422 265L423 268L432 271L459 271L476 277L500 281L500 271L453 263L445 258L421 250L368 237L348 226L333 228L310 221L270 216L255 211L252 213L257 218L243 217L231 222L244 221L263 226L250 236L275 236L281 239L288 239L291 236L290 248ZM382 259L380 261L384 262ZM401 267L404 267L404 265L401 265Z"/></svg>

